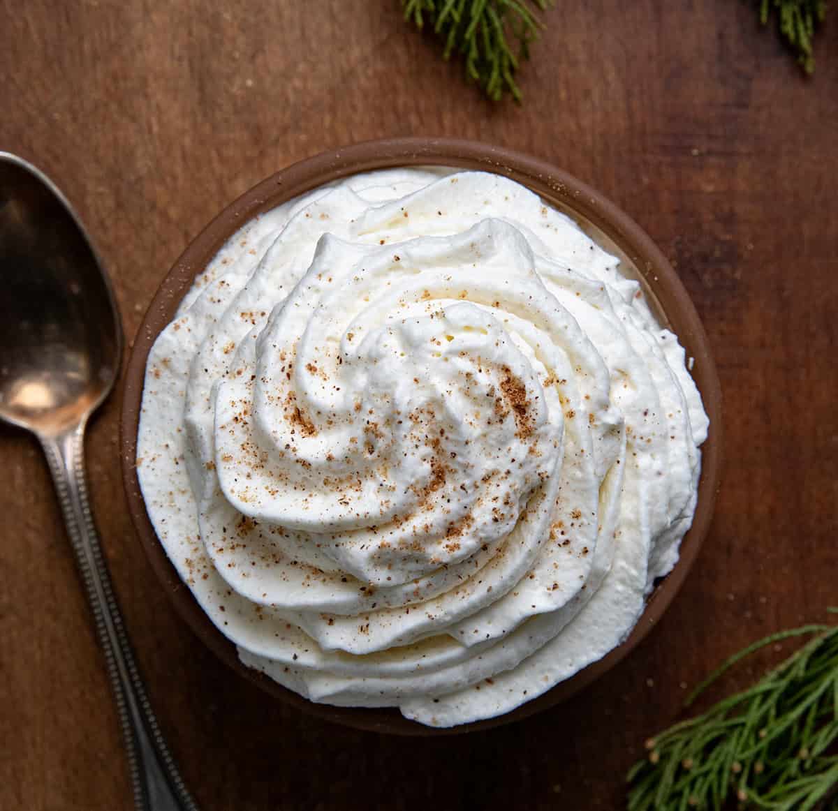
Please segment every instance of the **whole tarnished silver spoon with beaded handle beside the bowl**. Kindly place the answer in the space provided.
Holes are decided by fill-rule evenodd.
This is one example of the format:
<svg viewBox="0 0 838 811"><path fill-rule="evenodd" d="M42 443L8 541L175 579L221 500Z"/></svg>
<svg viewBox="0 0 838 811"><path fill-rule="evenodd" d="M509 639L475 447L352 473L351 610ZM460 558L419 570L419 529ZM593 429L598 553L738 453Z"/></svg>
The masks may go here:
<svg viewBox="0 0 838 811"><path fill-rule="evenodd" d="M105 649L140 811L197 811L160 734L87 499L87 419L113 388L122 327L111 285L64 196L0 152L0 419L44 448Z"/></svg>

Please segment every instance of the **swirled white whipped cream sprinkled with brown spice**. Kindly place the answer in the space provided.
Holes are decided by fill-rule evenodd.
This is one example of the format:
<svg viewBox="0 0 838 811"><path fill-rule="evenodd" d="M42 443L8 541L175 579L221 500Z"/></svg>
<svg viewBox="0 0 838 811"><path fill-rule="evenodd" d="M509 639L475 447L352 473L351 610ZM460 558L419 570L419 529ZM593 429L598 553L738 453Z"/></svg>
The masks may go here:
<svg viewBox="0 0 838 811"><path fill-rule="evenodd" d="M241 660L431 726L628 635L708 421L677 338L565 215L394 169L247 222L148 357L137 473Z"/></svg>

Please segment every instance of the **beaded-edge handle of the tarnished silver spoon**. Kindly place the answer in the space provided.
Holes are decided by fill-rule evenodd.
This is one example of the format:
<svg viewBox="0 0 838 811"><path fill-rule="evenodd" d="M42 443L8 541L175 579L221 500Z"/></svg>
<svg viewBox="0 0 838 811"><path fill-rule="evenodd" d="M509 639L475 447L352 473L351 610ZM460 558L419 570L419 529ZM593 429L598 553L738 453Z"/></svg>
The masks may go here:
<svg viewBox="0 0 838 811"><path fill-rule="evenodd" d="M158 727L116 605L85 484L85 422L59 436L39 436L67 532L105 650L137 811L198 811Z"/></svg>

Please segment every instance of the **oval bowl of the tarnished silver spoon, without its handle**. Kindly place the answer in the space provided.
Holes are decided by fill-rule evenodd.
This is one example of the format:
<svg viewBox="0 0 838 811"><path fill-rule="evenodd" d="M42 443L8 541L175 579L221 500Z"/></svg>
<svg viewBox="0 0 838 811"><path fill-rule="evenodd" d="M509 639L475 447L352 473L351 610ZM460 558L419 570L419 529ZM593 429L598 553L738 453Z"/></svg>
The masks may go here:
<svg viewBox="0 0 838 811"><path fill-rule="evenodd" d="M50 436L113 388L122 328L70 204L43 173L0 152L0 416Z"/></svg>

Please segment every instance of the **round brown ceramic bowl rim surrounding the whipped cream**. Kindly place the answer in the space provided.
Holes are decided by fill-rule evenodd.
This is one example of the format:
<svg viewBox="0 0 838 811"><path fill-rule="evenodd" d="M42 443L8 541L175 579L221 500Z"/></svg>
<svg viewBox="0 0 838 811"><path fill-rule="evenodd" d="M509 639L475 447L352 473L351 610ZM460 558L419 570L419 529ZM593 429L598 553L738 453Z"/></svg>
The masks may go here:
<svg viewBox="0 0 838 811"><path fill-rule="evenodd" d="M430 729L414 721L408 721L396 709L373 710L313 704L281 687L265 675L241 664L235 645L209 621L169 562L146 514L135 467L137 424L148 351L158 333L173 319L178 304L191 287L194 277L215 256L225 240L255 214L272 209L323 183L373 169L417 164L480 169L512 178L540 194L557 209L569 214L605 250L619 256L622 260L623 272L639 279L649 296L649 301L653 307L657 308L661 320L678 335L686 348L687 355L695 359L692 375L701 391L707 414L710 416L710 435L703 447L703 464L695 520L682 542L680 560L670 575L660 581L654 589L643 617L629 638L621 646L608 653L604 659L590 665L572 679L557 684L545 695L541 695L540 698L530 701L517 710L489 721L455 727L452 730ZM372 141L333 152L323 152L314 158L308 158L277 172L227 206L184 251L183 256L163 279L163 284L151 306L148 307L134 341L127 367L122 403L122 474L125 480L128 508L153 570L172 598L178 613L184 617L194 632L226 664L247 679L259 684L272 697L329 721L365 730L406 735L451 734L520 720L573 695L623 659L660 619L696 559L701 541L704 540L710 525L716 498L721 442L722 395L706 334L684 286L649 236L614 204L603 198L602 194L588 188L584 183L549 163L529 158L518 152L511 152L508 149L451 138L400 138Z"/></svg>

